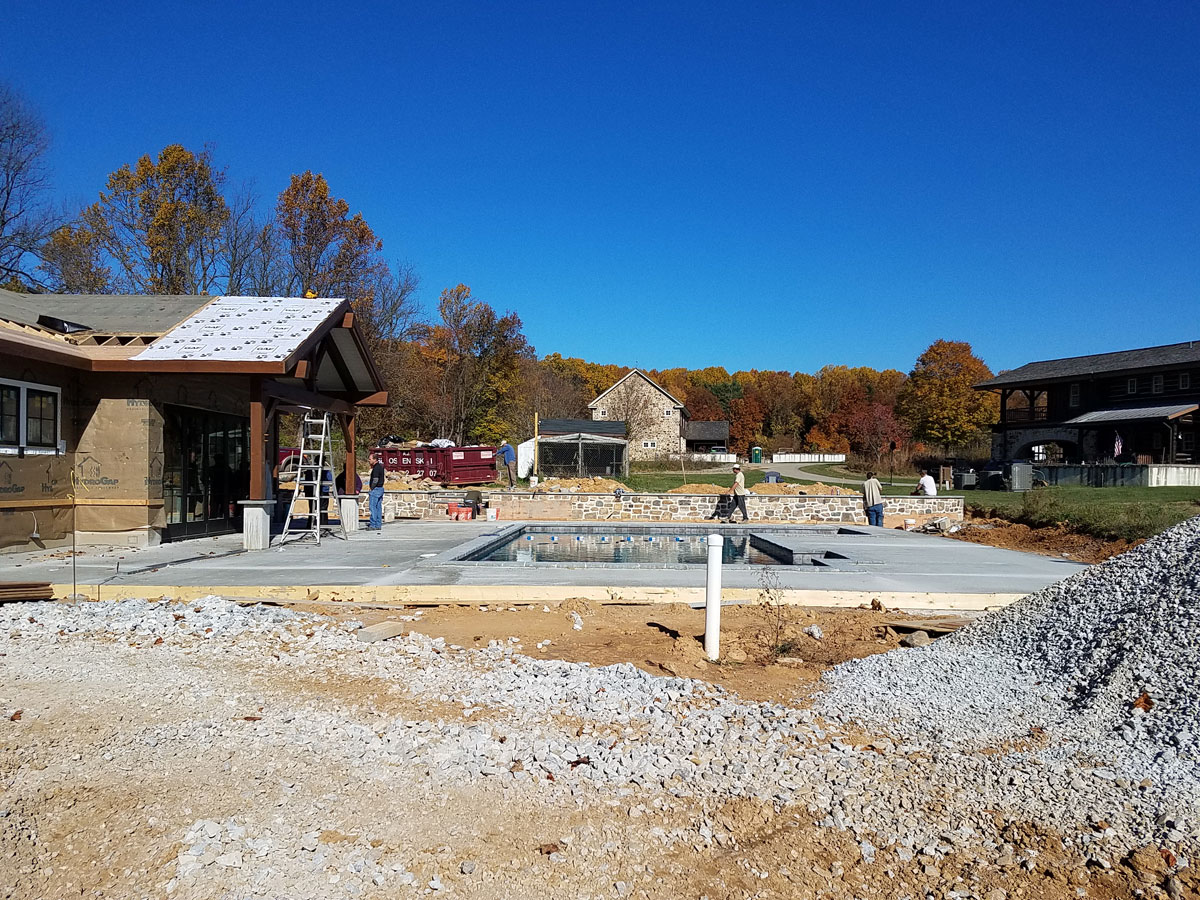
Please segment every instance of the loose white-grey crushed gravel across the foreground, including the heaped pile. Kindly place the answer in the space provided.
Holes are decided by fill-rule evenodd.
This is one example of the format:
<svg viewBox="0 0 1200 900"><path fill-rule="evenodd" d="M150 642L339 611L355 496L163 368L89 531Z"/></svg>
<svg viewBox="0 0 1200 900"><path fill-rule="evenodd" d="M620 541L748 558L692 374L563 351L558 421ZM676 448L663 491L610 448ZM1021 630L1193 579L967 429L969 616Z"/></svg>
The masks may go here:
<svg viewBox="0 0 1200 900"><path fill-rule="evenodd" d="M144 719L113 731L103 757L73 764L77 778L95 778L106 766L160 772L173 760L202 758L214 748L226 774L253 762L259 793L274 797L270 784L281 799L262 808L247 800L238 816L197 810L167 829L163 841L173 850L160 887L176 896L320 895L314 872L323 889L336 883L338 895L371 896L398 887L439 890L434 882L445 887L442 880L451 872L468 875L470 866L458 863L431 875L415 851L385 856L370 841L328 839L338 793L287 802L306 773L319 772L348 773L343 792L370 794L408 779L446 796L479 786L498 797L533 792L578 810L628 808L631 818L664 822L647 833L659 847L727 845L730 833L716 810L745 799L803 811L824 828L852 835L870 864L916 857L936 869L947 854L970 848L988 865L1004 866L1020 862L1022 851L1001 823L1036 822L1062 834L1072 852L1096 865L1157 841L1170 847L1182 870L1200 846L1195 785L1184 772L1189 761L1194 766L1195 743L1181 736L1189 697L1192 714L1195 709L1195 637L1189 650L1164 660L1135 652L1130 666L1122 664L1129 653L1121 648L1157 640L1163 629L1180 640L1187 628L1195 631L1196 532L1193 522L1157 550L1151 542L1120 566L1078 576L1060 586L1061 593L1030 598L1022 604L1025 618L997 613L926 649L844 666L815 709L746 702L704 682L652 676L628 664L532 659L522 654L518 637L484 649L416 632L365 643L353 624L218 596L188 604L11 605L0 607L0 635L7 637L0 707L20 702L23 715L14 719L16 708L0 708L0 724L31 730L6 732L12 745L28 746L22 736L36 734L40 719L35 688L72 684L80 703L91 696L101 704L108 692L126 709L140 703L146 710ZM1109 643L1102 642L1103 654L1086 644L1088 635L1103 630L1087 623L1103 616L1070 600L1079 578L1093 572L1102 580L1097 587L1114 598L1106 606L1094 598L1088 602L1121 613L1122 623L1110 629ZM1175 606L1139 608L1146 598L1176 589L1192 593L1184 590ZM1055 612L1064 602L1075 602L1074 630ZM1142 616L1150 620L1141 623ZM582 622L582 614L576 617ZM1014 628L1006 623L1030 620L1042 623L1038 636L1003 637ZM1050 659L1057 660L1058 674L1033 685L1038 666ZM1193 673L1189 685L1175 680L1183 671ZM1088 691L1079 690L1085 678ZM262 686L349 680L386 685L410 706L401 714L359 701L296 702ZM1142 690L1154 704L1150 712L1117 715L1118 707L1128 707L1129 692ZM876 691L875 702L866 700L869 691ZM952 700L937 698L940 692ZM971 725L980 718L983 727ZM1120 731L1133 719L1141 722L1135 737L1147 744L1136 766L1128 764L1136 742ZM883 727L869 738L844 727L866 720ZM1028 737L1034 721L1058 743L976 751L983 736ZM1088 739L1106 752L1124 754L1105 764L1097 748L1060 733L1072 722L1102 721L1104 727L1088 726ZM1151 775L1134 784L1134 774L1147 767ZM19 805L19 798L36 797L62 778L53 768L18 767L6 775L2 797ZM19 818L6 814L0 829ZM582 872L592 845L587 834L575 839L578 856L571 859L581 860ZM5 841L0 830L0 848ZM604 846L590 852L602 854ZM560 850L547 859L554 853ZM563 859L547 864L565 870ZM29 865L22 877L32 880L40 863Z"/></svg>

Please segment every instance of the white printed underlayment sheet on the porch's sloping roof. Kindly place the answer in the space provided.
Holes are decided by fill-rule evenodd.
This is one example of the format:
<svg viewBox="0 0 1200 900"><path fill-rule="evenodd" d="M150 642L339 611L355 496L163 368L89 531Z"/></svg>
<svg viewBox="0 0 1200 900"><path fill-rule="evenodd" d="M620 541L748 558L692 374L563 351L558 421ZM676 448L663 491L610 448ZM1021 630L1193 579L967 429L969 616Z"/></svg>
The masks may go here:
<svg viewBox="0 0 1200 900"><path fill-rule="evenodd" d="M218 296L133 359L281 361L343 302L337 298Z"/></svg>

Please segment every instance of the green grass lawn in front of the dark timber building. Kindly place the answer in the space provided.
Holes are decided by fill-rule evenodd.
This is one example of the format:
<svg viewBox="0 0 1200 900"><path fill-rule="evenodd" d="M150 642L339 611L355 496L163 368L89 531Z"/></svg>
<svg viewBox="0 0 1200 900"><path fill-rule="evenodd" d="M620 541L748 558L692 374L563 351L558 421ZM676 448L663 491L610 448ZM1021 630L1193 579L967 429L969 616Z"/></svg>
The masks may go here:
<svg viewBox="0 0 1200 900"><path fill-rule="evenodd" d="M966 508L1027 526L1060 522L1097 538L1139 540L1200 515L1200 487L1039 487L962 491Z"/></svg>

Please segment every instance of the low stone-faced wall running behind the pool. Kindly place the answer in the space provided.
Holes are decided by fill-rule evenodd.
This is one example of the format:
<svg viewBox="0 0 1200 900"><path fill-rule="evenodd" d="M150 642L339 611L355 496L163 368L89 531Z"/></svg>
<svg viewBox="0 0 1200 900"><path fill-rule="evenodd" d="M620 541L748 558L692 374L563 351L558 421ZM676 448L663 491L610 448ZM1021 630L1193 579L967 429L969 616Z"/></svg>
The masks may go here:
<svg viewBox="0 0 1200 900"><path fill-rule="evenodd" d="M686 522L707 518L716 506L714 494L686 493L529 493L494 491L486 496L500 521L614 521ZM462 491L388 491L385 517L442 518L446 504L462 499ZM750 494L746 510L751 522L838 522L866 524L860 497ZM361 515L367 515L364 494ZM962 518L961 497L884 497L888 516L948 516ZM740 516L739 516L740 520Z"/></svg>

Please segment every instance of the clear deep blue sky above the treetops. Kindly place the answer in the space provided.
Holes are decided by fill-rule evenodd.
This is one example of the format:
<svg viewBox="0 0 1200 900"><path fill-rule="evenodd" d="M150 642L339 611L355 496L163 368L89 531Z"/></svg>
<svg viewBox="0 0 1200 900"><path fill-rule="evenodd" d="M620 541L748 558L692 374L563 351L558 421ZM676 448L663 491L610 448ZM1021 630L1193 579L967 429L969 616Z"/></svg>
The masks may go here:
<svg viewBox="0 0 1200 900"><path fill-rule="evenodd" d="M10 0L66 202L313 169L421 299L643 367L1200 338L1200 6Z"/></svg>

